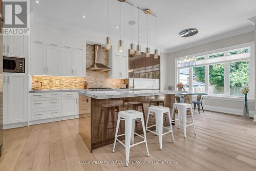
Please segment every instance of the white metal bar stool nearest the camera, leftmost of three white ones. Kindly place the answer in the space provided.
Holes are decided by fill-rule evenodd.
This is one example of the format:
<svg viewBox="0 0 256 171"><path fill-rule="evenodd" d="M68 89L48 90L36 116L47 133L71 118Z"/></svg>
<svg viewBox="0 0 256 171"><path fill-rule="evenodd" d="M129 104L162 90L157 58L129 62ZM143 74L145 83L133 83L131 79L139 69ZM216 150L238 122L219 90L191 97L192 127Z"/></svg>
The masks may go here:
<svg viewBox="0 0 256 171"><path fill-rule="evenodd" d="M134 132L135 120L138 120L138 119L141 120L144 137L142 137L141 135ZM125 134L117 135L120 120L124 120L124 122L125 122ZM144 140L134 144L134 134L143 138ZM123 136L123 135L125 135L125 144L123 144L119 139L117 139L117 137L120 137L120 136ZM132 144L131 144L131 138L132 138ZM129 164L130 148L132 146L135 146L135 145L138 145L138 144L141 144L141 143L145 142L146 143L147 156L150 156L150 154L148 153L148 149L147 149L146 132L145 132L144 118L143 118L143 113L142 112L135 111L135 110L127 110L127 111L120 111L118 113L113 153L115 152L116 141L120 142L125 147L125 158L126 158L125 159L125 161L126 161L125 165L126 166L128 166L128 164Z"/></svg>

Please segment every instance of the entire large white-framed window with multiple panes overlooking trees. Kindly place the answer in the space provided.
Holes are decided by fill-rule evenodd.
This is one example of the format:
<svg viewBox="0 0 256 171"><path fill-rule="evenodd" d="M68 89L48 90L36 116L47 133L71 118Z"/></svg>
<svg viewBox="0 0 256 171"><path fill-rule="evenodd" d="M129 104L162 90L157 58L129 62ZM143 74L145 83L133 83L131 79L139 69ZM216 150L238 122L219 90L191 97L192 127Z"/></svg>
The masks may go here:
<svg viewBox="0 0 256 171"><path fill-rule="evenodd" d="M254 98L254 55L253 43L238 45L222 50L193 54L193 63L176 59L177 82L185 84L184 91L207 93L216 96L243 96L241 89L249 87L248 98ZM183 57L184 58L184 57ZM190 77L189 77L190 76ZM185 77L185 79L184 79ZM189 81L193 79L193 81ZM193 84L192 84L193 82ZM192 84L192 85L190 85Z"/></svg>

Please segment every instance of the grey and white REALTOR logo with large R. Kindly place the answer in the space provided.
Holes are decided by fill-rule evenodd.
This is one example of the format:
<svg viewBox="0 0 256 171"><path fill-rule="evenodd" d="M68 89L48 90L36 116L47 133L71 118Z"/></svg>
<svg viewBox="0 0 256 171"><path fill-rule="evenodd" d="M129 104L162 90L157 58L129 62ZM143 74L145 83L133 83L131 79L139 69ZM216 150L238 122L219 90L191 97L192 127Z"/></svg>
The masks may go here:
<svg viewBox="0 0 256 171"><path fill-rule="evenodd" d="M29 35L29 2L3 1L4 35Z"/></svg>

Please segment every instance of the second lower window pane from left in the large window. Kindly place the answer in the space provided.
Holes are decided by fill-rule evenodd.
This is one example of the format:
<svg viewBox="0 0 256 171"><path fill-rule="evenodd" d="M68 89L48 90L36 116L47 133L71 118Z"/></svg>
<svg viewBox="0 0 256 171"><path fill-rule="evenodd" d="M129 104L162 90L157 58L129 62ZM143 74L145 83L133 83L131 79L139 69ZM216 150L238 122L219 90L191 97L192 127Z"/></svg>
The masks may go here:
<svg viewBox="0 0 256 171"><path fill-rule="evenodd" d="M193 90L196 93L204 93L205 88L205 71L203 67L193 68Z"/></svg>

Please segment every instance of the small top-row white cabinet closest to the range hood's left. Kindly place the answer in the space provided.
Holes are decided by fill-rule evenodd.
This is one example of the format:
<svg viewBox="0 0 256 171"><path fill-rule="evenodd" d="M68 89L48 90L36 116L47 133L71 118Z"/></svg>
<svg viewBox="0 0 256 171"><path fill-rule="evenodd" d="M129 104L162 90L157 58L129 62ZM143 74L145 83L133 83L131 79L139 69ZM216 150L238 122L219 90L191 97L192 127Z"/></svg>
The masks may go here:
<svg viewBox="0 0 256 171"><path fill-rule="evenodd" d="M83 41L67 36L61 36L61 48L83 50Z"/></svg>

